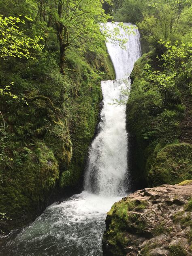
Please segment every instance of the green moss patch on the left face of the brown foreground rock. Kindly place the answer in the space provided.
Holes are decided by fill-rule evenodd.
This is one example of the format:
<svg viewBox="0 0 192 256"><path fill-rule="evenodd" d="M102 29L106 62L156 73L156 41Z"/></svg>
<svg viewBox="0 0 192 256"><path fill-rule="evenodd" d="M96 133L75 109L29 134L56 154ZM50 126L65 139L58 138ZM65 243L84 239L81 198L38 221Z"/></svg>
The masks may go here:
<svg viewBox="0 0 192 256"><path fill-rule="evenodd" d="M147 205L145 200L123 198L111 207L106 218L107 231L103 236L103 242L109 245L111 255L126 255L124 248L131 244L129 232L145 232L146 223L136 211L145 209Z"/></svg>

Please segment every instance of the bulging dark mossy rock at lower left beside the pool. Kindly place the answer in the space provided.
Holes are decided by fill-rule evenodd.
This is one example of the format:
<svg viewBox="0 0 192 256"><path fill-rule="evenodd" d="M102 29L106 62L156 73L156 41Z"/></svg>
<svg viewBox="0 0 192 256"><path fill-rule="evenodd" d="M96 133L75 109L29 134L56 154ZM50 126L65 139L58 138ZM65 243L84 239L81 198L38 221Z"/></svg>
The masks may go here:
<svg viewBox="0 0 192 256"><path fill-rule="evenodd" d="M34 150L21 151L12 164L1 171L1 212L11 219L1 221L5 231L33 220L47 206L59 179L58 161L43 141L36 141Z"/></svg>

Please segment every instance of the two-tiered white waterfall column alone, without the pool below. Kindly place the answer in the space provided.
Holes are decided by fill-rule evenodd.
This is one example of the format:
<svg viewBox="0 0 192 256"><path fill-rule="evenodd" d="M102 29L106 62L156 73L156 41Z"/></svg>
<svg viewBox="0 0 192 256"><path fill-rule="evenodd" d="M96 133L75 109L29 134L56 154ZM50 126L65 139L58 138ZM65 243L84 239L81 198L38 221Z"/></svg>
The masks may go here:
<svg viewBox="0 0 192 256"><path fill-rule="evenodd" d="M125 23L124 25L130 25ZM108 23L113 30L118 23ZM119 28L119 27L118 27ZM120 37L126 32L119 28ZM115 100L126 100L122 90L130 86L130 75L134 62L140 57L139 32L134 34L120 47L117 43L107 43L107 49L115 68L115 81L102 81L103 109L97 137L92 142L89 164L85 175L85 190L104 196L125 194L124 179L127 173L126 105L114 105Z"/></svg>

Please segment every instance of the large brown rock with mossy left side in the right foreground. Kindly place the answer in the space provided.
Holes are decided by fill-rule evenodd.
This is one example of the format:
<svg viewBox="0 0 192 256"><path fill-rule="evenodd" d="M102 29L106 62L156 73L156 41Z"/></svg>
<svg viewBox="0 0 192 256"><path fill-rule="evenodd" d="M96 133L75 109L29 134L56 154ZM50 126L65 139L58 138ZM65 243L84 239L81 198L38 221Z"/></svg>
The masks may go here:
<svg viewBox="0 0 192 256"><path fill-rule="evenodd" d="M105 256L192 255L192 181L145 188L107 213Z"/></svg>

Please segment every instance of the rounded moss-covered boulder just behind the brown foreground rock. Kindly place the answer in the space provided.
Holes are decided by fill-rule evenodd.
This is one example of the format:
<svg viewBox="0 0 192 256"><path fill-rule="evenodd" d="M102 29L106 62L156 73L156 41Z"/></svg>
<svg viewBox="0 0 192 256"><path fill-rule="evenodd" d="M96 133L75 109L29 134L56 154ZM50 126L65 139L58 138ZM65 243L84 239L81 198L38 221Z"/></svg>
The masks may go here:
<svg viewBox="0 0 192 256"><path fill-rule="evenodd" d="M192 179L192 145L170 144L158 152L148 174L151 186L177 184Z"/></svg>

